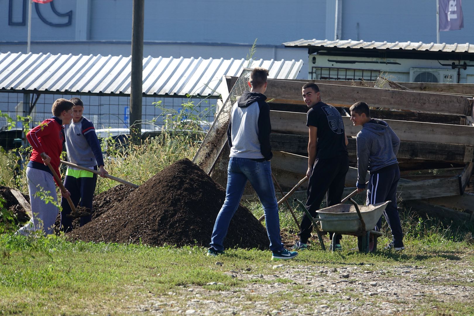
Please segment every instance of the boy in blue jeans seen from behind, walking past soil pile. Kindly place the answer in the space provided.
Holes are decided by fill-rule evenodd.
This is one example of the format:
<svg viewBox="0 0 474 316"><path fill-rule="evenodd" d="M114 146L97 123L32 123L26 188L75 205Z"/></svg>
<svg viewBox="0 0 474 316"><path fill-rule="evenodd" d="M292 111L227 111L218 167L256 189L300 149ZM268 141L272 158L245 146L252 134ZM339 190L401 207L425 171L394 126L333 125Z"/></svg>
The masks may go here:
<svg viewBox="0 0 474 316"><path fill-rule="evenodd" d="M230 159L224 205L219 211L212 231L208 256L224 253L224 238L234 216L247 180L262 202L272 260L292 259L298 255L283 247L280 218L273 188L270 159L270 107L265 102L268 70L256 67L250 74L250 92L244 92L231 109L228 126Z"/></svg>

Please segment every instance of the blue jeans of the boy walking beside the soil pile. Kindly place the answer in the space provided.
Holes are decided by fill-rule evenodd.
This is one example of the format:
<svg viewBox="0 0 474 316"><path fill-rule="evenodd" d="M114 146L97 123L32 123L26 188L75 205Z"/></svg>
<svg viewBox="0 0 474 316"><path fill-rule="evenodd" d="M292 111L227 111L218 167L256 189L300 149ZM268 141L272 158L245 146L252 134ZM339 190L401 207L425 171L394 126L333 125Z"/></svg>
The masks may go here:
<svg viewBox="0 0 474 316"><path fill-rule="evenodd" d="M270 162L257 162L252 159L237 157L230 157L229 160L226 199L217 215L210 246L215 250L224 250L224 238L227 235L230 220L239 206L247 180L250 181L260 202L262 202L265 226L268 239L270 239L270 249L272 251L282 251L284 248L280 236L280 217L278 216Z"/></svg>

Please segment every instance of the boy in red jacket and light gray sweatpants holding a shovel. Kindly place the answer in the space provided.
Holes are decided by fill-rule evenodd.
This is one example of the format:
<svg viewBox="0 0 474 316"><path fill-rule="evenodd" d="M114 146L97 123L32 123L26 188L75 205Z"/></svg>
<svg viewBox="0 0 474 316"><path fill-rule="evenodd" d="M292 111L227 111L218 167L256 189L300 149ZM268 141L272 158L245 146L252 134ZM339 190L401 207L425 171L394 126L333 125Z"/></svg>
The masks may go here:
<svg viewBox="0 0 474 316"><path fill-rule="evenodd" d="M58 215L57 203L47 203L43 195L51 197L57 202L55 181L47 163L59 175L59 160L63 151L64 136L63 124L71 123L73 118L73 102L66 99L57 99L51 111L53 117L41 122L27 133L27 139L33 152L27 165L28 191L33 218L18 230L21 235L30 235L36 230L44 230L45 235L53 233L53 225ZM40 192L41 191L41 192ZM61 191L63 197L70 195L69 191ZM43 199L42 199L43 198Z"/></svg>

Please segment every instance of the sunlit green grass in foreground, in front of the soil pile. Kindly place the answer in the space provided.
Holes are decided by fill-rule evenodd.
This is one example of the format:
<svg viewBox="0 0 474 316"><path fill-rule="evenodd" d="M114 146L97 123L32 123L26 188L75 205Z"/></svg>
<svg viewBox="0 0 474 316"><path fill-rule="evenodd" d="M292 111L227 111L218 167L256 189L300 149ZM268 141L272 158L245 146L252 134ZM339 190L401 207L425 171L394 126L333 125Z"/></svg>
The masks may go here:
<svg viewBox="0 0 474 316"><path fill-rule="evenodd" d="M310 301L304 285L292 284L292 280L286 278L248 280L223 274L231 270L249 275L262 273L269 276L278 273L272 268L276 262L270 261L269 251L230 249L216 259L206 257L205 249L201 247L70 243L62 237L29 239L7 234L0 236L0 251L0 313L5 315L50 315L53 310L55 315L86 315L91 312L124 315L130 310L127 307L139 306L150 295L170 301L173 300L173 294L169 295L168 292L183 291L187 287L202 286L219 293L255 282L286 284L298 296L286 294L285 299L295 304ZM451 274L456 273L456 261L461 258L470 262L472 267L474 256L465 254L473 251L474 246L465 242L448 242L434 247L426 240L409 240L403 253L362 254L347 249L342 253L330 253L315 246L312 250L301 252L295 260L283 263L290 268L301 265L340 268L364 263L369 265L364 266L364 270L372 271L382 267L419 265L436 276L444 272L436 269L447 259L452 262L449 266ZM217 260L224 263L222 267L215 264ZM246 271L247 267L252 270ZM390 273L387 276L391 276ZM405 276L400 278L408 279ZM209 282L222 284L207 285ZM473 289L472 282L457 280L455 284ZM443 285L443 281L436 285ZM218 294L213 295L219 298ZM276 298L277 295L270 296L272 308L280 307ZM212 294L208 299L212 299ZM245 294L245 300L250 302L268 299L256 294ZM461 313L466 306L474 307L472 305L443 307L441 304L438 311L440 308L454 308Z"/></svg>

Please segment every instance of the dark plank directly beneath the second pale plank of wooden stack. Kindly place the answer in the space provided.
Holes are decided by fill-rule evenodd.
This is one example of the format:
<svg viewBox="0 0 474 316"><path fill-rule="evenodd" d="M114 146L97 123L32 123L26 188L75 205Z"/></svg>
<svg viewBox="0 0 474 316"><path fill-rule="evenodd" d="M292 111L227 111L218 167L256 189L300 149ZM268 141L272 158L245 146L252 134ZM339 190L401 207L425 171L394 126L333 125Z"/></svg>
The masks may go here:
<svg viewBox="0 0 474 316"><path fill-rule="evenodd" d="M306 155L309 136L272 133L270 144L273 150ZM348 138L349 156L356 156L356 139ZM303 154L304 153L304 154ZM399 159L434 160L453 163L473 161L474 146L458 144L433 144L401 141L397 154Z"/></svg>

